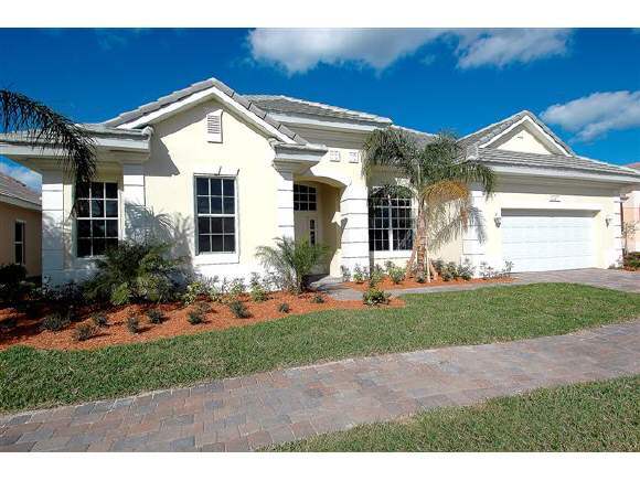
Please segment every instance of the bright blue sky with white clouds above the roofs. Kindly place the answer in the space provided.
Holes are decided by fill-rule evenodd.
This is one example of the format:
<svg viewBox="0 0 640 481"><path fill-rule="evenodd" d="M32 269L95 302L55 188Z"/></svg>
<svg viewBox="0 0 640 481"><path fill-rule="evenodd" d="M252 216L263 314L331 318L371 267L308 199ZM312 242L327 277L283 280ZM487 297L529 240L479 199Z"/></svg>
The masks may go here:
<svg viewBox="0 0 640 481"><path fill-rule="evenodd" d="M640 161L640 30L0 29L0 88L107 120L216 77L463 136L522 109L579 154ZM0 171L40 178L0 157Z"/></svg>

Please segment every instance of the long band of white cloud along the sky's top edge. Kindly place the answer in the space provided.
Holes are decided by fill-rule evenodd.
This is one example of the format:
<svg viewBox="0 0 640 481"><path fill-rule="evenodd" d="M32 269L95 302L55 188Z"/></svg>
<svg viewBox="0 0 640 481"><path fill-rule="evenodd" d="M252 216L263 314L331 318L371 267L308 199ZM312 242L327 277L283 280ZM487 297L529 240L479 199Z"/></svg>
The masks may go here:
<svg viewBox="0 0 640 481"><path fill-rule="evenodd" d="M504 66L564 54L569 36L564 29L256 29L248 43L254 60L295 74L346 63L380 72L438 40L457 44L460 68Z"/></svg>

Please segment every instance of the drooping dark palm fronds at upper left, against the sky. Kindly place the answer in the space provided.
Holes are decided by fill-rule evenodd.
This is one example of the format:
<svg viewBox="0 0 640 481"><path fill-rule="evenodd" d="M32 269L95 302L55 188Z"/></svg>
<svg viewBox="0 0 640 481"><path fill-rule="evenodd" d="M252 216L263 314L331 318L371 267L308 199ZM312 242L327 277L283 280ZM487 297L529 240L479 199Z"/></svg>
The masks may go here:
<svg viewBox="0 0 640 481"><path fill-rule="evenodd" d="M54 148L76 192L88 185L96 171L90 135L77 124L25 95L0 89L0 128L15 132L33 147Z"/></svg>

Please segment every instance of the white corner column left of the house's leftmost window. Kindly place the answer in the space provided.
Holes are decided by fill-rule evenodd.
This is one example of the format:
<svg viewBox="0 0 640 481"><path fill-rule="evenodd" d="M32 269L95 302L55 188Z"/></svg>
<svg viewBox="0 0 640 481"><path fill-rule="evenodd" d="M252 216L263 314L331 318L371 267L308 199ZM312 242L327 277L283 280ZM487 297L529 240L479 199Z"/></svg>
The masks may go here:
<svg viewBox="0 0 640 481"><path fill-rule="evenodd" d="M62 171L42 172L42 279L52 286L65 281Z"/></svg>

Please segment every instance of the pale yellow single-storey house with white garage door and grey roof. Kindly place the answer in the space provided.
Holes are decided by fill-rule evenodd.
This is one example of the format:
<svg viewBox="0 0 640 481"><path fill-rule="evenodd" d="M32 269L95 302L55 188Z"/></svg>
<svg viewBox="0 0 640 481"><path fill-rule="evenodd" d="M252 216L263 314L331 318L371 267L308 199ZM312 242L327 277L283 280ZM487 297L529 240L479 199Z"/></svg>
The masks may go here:
<svg viewBox="0 0 640 481"><path fill-rule="evenodd" d="M437 114L434 114L437 115ZM278 236L330 247L322 271L340 274L412 247L407 199L375 196L361 173L362 146L392 127L372 114L285 96L242 96L212 78L102 124L89 192L74 192L56 151L0 139L0 154L43 175L43 272L54 282L86 277L93 257L122 238L170 239L204 276L260 271L256 247ZM402 128L394 126L395 128ZM405 129L420 142L433 136ZM499 177L482 210L487 240L469 231L438 253L515 270L608 267L619 261L620 195L640 173L577 156L522 111L461 139L466 157Z"/></svg>

